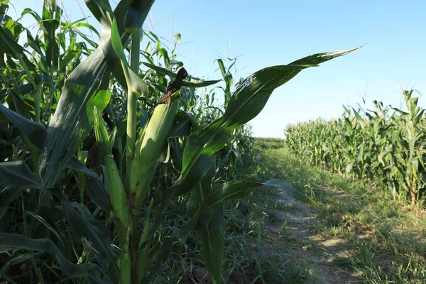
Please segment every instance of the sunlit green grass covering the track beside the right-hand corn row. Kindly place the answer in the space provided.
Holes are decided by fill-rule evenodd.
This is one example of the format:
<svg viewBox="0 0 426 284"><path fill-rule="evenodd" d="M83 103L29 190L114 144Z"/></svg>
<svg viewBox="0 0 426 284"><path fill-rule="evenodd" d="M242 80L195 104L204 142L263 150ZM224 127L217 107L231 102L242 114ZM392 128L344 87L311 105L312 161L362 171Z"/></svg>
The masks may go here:
<svg viewBox="0 0 426 284"><path fill-rule="evenodd" d="M263 144L264 141L261 141ZM246 161L247 178L286 180L318 203L313 209L318 224L312 239L299 240L307 251L315 254L318 244L324 249L327 240L339 241L344 244L346 254L334 258L331 266L356 275L356 280L361 283L424 283L424 210L394 201L386 192L376 190L366 182L346 180L307 166L285 148L269 149L260 151L255 161ZM273 221L280 210L274 207L273 198L265 196L262 192L255 192L251 202L255 204L256 198L264 200L261 208ZM252 210L246 217L253 222L261 218L261 211ZM284 242L287 251L297 247L294 239L283 241L265 236L267 230L262 224L256 224L263 227L263 241L275 245ZM316 242L315 238L322 239L322 242ZM303 266L298 269L307 273ZM315 278L315 275L312 277Z"/></svg>

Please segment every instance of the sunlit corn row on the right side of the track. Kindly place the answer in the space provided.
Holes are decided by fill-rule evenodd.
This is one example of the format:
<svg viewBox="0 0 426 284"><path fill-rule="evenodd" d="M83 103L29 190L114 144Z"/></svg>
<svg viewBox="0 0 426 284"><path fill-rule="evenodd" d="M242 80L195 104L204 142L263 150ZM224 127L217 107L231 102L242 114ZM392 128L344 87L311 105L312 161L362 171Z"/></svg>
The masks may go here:
<svg viewBox="0 0 426 284"><path fill-rule="evenodd" d="M373 111L345 107L340 119L288 126L286 147L310 165L373 180L414 205L426 187L425 109L417 106L413 91L403 94L406 111L374 101Z"/></svg>

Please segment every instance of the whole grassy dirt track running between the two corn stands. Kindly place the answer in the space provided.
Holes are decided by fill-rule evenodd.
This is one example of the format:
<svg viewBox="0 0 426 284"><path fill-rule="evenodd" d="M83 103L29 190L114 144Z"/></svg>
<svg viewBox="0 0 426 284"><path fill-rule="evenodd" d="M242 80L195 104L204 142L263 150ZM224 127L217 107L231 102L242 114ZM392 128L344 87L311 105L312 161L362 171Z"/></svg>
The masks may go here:
<svg viewBox="0 0 426 284"><path fill-rule="evenodd" d="M307 165L283 148L260 151L254 165L258 180L285 180L317 202L308 206L284 190L253 194L256 210L248 216L263 231L250 244L266 259L279 256L273 269L289 277L276 283L425 283L424 209L368 181Z"/></svg>

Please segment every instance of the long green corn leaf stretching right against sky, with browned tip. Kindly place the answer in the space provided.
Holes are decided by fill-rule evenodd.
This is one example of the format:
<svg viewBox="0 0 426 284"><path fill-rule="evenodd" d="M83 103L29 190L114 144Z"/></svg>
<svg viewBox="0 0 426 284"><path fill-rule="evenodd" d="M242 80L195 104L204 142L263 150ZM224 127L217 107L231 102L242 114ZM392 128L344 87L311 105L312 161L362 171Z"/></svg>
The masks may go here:
<svg viewBox="0 0 426 284"><path fill-rule="evenodd" d="M247 77L239 84L229 100L224 116L190 136L183 153L182 175L185 175L185 171L192 167L202 153L213 155L214 152L223 148L229 133L256 117L265 107L275 88L285 84L307 67L346 55L353 50L356 48L349 51L310 55L290 65L267 67Z"/></svg>

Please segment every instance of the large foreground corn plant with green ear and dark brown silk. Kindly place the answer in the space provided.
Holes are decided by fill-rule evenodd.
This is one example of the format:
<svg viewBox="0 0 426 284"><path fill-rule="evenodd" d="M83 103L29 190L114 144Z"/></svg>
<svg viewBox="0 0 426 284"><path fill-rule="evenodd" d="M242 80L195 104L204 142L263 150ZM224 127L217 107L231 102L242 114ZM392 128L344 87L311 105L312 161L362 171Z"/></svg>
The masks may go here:
<svg viewBox="0 0 426 284"><path fill-rule="evenodd" d="M0 111L7 121L37 147L42 157L39 177L33 175L23 161L0 163L0 185L11 187L11 192L16 190L18 194L24 188L39 190L39 202L35 203L43 208L58 208L55 205L59 202L69 231L81 240L82 253L78 263L72 263L64 256L60 244L19 234L1 234L0 249L53 251L65 274L89 278L94 283L149 283L168 261L173 245L196 231L201 240L202 261L212 275L213 283L219 284L222 283L224 254L224 200L246 197L256 188L268 186L283 188L299 200L311 202L282 180L231 180L235 172L233 164L227 172L230 181L219 182L215 153L226 146L236 129L260 113L275 88L307 67L315 67L353 50L318 53L289 65L267 67L241 80L233 90L233 80L222 70L226 80L226 108L209 123L198 125L190 115L182 112L178 115L180 109L185 109L180 96L183 97L186 88L205 87L217 81L198 80L190 77L181 65L168 65L171 60L165 50L158 52L167 68L153 64L151 57L142 52L148 61L143 62L148 71L141 74L141 27L153 2L121 0L113 11L106 0L86 1L102 26L100 44L65 80L47 129L44 124L0 104ZM46 5L55 5L55 1L46 0ZM127 46L129 40L131 45ZM46 64L57 67L55 46L52 48ZM129 50L130 63L125 50ZM126 99L125 107L121 109L126 121L114 120L114 124L105 121L106 116L114 116L111 111L113 88L109 85L111 73L114 83L119 85L117 92L122 91ZM158 82L146 80L149 74L155 74ZM158 93L163 97L151 101L153 94ZM153 108L151 116L139 111L141 104ZM203 117L203 114L195 115ZM139 126L138 117L145 117L146 123ZM34 120L37 121L37 117ZM93 128L96 147L92 147L95 150L87 156L95 171L86 168L75 156ZM121 162L121 134L126 136L125 166ZM162 163L170 164L171 143L181 153L173 160L176 178L168 180L163 187L153 187L153 177ZM116 147L120 149L116 151ZM236 151L236 147L231 150ZM237 155L232 163L236 163ZM73 175L68 174L75 171L81 173L80 177L84 175L84 182L76 182ZM85 187L97 207L94 212L83 203L70 202L68 196L74 190L74 187L69 188L72 184ZM184 224L163 233L162 224L169 205L176 197L187 195L190 203ZM42 210L38 212L42 214ZM109 218L114 222L115 246L111 246L111 231L104 224ZM50 228L47 222L43 224L55 234L55 228ZM65 239L60 234L57 237L62 241ZM93 258L97 261L92 261ZM38 268L35 272L38 273Z"/></svg>

